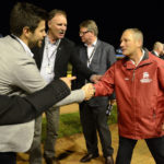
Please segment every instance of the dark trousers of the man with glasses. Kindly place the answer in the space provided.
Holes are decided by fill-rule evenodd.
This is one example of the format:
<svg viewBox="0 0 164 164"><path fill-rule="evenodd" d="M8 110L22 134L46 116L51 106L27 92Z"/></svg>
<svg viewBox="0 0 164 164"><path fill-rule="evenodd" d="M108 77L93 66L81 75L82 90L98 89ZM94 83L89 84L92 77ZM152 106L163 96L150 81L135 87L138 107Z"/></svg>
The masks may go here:
<svg viewBox="0 0 164 164"><path fill-rule="evenodd" d="M112 136L107 125L106 106L91 107L85 102L80 104L80 118L89 153L98 154L97 132L104 157L113 155Z"/></svg>

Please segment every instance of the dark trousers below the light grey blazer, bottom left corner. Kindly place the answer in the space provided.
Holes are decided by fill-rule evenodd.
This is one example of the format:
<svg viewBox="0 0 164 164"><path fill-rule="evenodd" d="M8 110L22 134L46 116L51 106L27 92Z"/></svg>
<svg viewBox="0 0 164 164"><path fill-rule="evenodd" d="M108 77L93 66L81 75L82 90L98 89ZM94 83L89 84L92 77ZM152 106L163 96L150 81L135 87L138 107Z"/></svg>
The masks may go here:
<svg viewBox="0 0 164 164"><path fill-rule="evenodd" d="M16 164L16 153L13 152L0 153L0 164Z"/></svg>

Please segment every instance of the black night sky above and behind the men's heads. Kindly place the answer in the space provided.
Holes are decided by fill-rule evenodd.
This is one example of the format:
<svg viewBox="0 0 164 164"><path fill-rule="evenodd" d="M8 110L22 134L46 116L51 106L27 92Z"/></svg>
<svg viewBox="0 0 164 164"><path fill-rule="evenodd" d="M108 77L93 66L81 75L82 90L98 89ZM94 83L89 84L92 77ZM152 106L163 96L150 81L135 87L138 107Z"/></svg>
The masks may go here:
<svg viewBox="0 0 164 164"><path fill-rule="evenodd" d="M22 0L23 1L23 0ZM98 25L98 37L115 48L125 28L138 27L143 32L144 47L152 49L154 42L164 43L163 1L121 1L121 0L26 0L47 11L65 10L68 14L66 37L80 43L79 24L93 19ZM0 5L0 33L9 34L9 14L16 0L3 0ZM144 3L143 3L144 2ZM147 3L147 4L145 4Z"/></svg>

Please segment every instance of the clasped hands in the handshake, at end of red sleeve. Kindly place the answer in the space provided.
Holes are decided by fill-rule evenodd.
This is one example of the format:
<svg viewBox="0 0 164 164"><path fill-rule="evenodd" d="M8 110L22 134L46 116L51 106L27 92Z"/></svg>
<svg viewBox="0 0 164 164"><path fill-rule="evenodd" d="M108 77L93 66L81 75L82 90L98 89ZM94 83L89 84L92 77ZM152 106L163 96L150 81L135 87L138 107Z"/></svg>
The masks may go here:
<svg viewBox="0 0 164 164"><path fill-rule="evenodd" d="M85 93L85 101L89 101L94 96L95 89L92 83L85 84L84 86L82 86L82 90Z"/></svg>

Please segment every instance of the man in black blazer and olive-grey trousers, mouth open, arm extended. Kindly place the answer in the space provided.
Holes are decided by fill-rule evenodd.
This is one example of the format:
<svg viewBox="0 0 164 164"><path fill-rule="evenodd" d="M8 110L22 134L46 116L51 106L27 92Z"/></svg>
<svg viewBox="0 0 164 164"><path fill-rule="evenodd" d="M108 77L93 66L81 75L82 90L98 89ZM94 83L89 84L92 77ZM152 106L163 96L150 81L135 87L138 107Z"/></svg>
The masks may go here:
<svg viewBox="0 0 164 164"><path fill-rule="evenodd" d="M68 63L71 62L87 80L96 80L98 75L93 74L79 59L74 50L74 43L65 38L67 31L67 14L61 10L52 10L48 17L48 33L42 48L33 49L34 58L40 69L40 74L49 83L54 78L67 75ZM55 142L58 136L59 107L51 107L46 112L47 134L44 147L44 157L47 164L59 163L55 157ZM31 149L30 163L42 164L40 152L40 120L36 121L37 136Z"/></svg>

